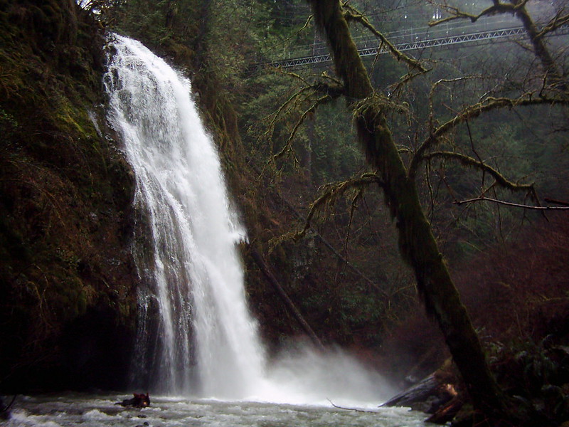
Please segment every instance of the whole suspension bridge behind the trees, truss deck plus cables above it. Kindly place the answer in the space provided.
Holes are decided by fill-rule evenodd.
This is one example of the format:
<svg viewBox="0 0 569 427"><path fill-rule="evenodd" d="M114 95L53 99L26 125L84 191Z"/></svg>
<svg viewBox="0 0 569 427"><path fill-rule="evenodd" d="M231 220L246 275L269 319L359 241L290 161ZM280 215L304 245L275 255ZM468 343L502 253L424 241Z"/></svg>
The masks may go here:
<svg viewBox="0 0 569 427"><path fill-rule="evenodd" d="M525 28L512 25L516 21L487 20L482 25L473 26L471 23L459 25L441 25L435 27L410 28L400 31L385 33L386 38L399 51L421 51L428 48L441 46L467 45L469 43L491 43L493 41L522 40L527 37ZM569 25L560 26L551 36L566 36L569 34ZM360 56L378 56L388 53L388 48L378 41L377 38L356 38L356 46ZM309 54L299 55L299 52ZM297 53L297 55L294 55ZM265 63L257 63L250 70L262 68L304 68L310 65L329 63L332 58L328 53L325 43L313 43L312 45L297 46L292 51L285 52L283 58Z"/></svg>

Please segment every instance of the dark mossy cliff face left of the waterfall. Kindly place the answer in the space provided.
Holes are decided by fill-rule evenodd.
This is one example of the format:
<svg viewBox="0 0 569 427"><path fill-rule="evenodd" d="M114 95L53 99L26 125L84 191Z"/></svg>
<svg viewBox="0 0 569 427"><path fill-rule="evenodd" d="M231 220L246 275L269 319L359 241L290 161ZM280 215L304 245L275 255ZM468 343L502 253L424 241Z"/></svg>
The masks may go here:
<svg viewBox="0 0 569 427"><path fill-rule="evenodd" d="M97 129L100 29L0 0L0 392L126 384L132 172Z"/></svg>

